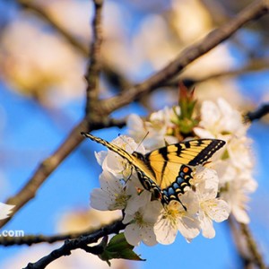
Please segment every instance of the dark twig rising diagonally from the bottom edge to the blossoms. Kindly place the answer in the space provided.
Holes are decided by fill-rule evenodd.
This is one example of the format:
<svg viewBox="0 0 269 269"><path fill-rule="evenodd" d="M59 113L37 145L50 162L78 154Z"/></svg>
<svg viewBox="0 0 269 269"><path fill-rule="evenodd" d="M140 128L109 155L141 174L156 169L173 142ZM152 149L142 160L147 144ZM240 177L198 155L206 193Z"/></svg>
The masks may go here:
<svg viewBox="0 0 269 269"><path fill-rule="evenodd" d="M36 263L29 263L25 269L43 269L59 257L71 255L71 251L74 249L81 248L83 250L87 249L88 251L89 247L87 247L87 245L97 242L98 239L108 236L109 234L118 233L120 230L125 229L125 227L126 225L121 221L115 221L89 236L81 237L80 239L65 240L65 244L62 247L52 251L48 256L42 257Z"/></svg>

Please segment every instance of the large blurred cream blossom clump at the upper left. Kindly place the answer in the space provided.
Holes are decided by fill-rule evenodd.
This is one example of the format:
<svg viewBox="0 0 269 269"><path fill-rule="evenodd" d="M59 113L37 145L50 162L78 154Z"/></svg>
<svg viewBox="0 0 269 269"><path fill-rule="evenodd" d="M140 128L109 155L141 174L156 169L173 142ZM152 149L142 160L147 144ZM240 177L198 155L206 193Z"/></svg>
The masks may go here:
<svg viewBox="0 0 269 269"><path fill-rule="evenodd" d="M84 88L82 57L42 27L40 22L32 23L21 16L4 29L1 65L5 80L40 101L79 98Z"/></svg>

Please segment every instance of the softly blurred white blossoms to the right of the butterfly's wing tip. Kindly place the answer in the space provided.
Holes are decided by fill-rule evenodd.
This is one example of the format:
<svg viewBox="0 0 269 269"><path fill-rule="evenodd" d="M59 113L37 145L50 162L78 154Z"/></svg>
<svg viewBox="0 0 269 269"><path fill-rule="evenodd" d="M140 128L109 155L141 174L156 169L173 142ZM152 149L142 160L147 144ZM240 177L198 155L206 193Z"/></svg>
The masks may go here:
<svg viewBox="0 0 269 269"><path fill-rule="evenodd" d="M249 147L251 141L247 138L247 126L243 124L239 111L222 99L217 100L216 104L204 101L201 121L194 131L201 138L226 141L223 160L214 164L220 178L221 198L230 205L237 221L248 223L248 195L256 190L257 184L252 177L254 161ZM223 150L220 153L223 154Z"/></svg>

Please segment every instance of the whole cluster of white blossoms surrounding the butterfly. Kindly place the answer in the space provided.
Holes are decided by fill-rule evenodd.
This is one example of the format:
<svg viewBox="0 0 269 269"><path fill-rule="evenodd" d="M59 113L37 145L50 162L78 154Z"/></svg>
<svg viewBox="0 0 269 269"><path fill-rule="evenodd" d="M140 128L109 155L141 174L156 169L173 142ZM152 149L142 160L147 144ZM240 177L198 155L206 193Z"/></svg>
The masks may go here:
<svg viewBox="0 0 269 269"><path fill-rule="evenodd" d="M178 136L171 135L171 130L177 128L178 114L179 107L153 113L149 121L131 115L127 122L130 136L119 136L112 143L126 152L143 154L167 143L178 143ZM152 192L143 188L127 161L116 152L96 153L103 171L100 188L91 193L91 207L103 211L122 210L129 244L137 246L141 241L148 246L158 242L171 244L178 232L188 242L200 232L212 239L215 236L213 221L225 221L230 213L240 222L249 221L247 194L256 189L256 182L251 177L247 127L242 124L239 112L225 100L218 100L216 104L204 101L200 114L200 121L193 129L195 138L217 138L227 146L213 155L209 165L192 168L192 187L180 195L181 203L173 200L161 204L160 200L152 199Z"/></svg>

